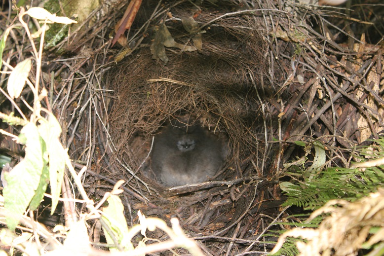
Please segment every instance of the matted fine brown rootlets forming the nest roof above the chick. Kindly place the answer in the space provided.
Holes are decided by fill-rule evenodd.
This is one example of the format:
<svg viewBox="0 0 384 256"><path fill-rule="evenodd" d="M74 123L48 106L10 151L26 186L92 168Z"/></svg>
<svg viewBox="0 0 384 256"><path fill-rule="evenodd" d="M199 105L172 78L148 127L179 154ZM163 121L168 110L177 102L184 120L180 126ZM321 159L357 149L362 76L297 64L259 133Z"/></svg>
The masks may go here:
<svg viewBox="0 0 384 256"><path fill-rule="evenodd" d="M188 7L180 7L174 15L187 16L182 10ZM210 19L206 15L199 22ZM233 23L248 30L239 32ZM119 63L111 72L110 85L119 97L110 115L117 148L125 147L137 132L153 135L164 121L183 113L192 114L209 129L227 133L241 156L257 148L254 134L260 129L261 101L256 96L258 91L263 93L260 76L266 70L266 43L249 24L238 18L223 22L203 34L203 50L170 51L166 64L155 61L148 47ZM169 31L182 30L180 21L175 25ZM191 40L179 39L186 44Z"/></svg>

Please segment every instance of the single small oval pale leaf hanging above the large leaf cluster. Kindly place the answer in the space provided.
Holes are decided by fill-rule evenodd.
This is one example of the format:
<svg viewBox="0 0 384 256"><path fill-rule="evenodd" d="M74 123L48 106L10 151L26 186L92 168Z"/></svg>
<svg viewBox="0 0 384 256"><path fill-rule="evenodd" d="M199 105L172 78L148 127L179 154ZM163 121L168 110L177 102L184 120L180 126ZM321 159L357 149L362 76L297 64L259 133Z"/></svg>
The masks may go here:
<svg viewBox="0 0 384 256"><path fill-rule="evenodd" d="M31 59L23 60L18 63L12 73L9 75L7 90L9 96L13 98L18 98L23 91L25 82L28 79L28 74L32 68Z"/></svg>

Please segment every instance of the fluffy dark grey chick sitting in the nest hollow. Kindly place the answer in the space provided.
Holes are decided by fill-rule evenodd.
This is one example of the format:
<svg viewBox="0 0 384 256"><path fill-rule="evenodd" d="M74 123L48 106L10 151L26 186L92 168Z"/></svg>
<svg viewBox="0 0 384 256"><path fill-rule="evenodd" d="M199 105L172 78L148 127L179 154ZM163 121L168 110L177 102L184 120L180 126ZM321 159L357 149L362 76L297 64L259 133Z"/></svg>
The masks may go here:
<svg viewBox="0 0 384 256"><path fill-rule="evenodd" d="M199 124L167 124L155 136L151 165L167 186L201 183L214 176L226 160L228 143Z"/></svg>

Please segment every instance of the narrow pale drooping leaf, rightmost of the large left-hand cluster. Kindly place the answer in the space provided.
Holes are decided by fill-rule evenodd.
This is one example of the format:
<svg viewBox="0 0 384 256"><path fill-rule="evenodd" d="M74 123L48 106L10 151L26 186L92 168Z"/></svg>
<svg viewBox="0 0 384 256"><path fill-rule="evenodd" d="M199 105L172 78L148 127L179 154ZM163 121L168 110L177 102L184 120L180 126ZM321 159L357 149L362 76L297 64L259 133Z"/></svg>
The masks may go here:
<svg viewBox="0 0 384 256"><path fill-rule="evenodd" d="M52 194L51 214L53 214L59 202L61 183L63 182L65 162L68 158L68 153L60 143L59 137L62 130L53 114L49 114L48 120L40 120L38 131L45 142L48 155L49 183Z"/></svg>

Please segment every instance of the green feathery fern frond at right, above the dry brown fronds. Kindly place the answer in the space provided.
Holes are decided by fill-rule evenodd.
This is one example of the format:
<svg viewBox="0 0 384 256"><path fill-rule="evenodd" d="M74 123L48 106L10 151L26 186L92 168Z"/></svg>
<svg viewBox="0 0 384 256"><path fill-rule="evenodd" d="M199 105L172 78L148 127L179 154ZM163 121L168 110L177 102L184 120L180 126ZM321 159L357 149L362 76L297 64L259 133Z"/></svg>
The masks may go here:
<svg viewBox="0 0 384 256"><path fill-rule="evenodd" d="M378 146L362 148L359 152L362 156L369 156L373 159L383 157L384 139L375 141ZM290 166L289 169L291 169ZM295 171L300 170L301 174L307 172L302 166L295 166ZM286 172L286 175L297 177L297 173ZM297 183L282 183L287 201L283 206L299 206L305 210L316 210L331 199L343 198L348 201L356 201L359 198L376 191L378 186L384 185L383 166L366 168L364 171L353 168L332 167L322 170L317 175L304 178Z"/></svg>

